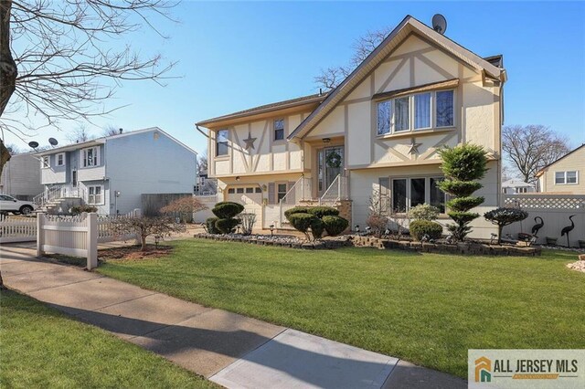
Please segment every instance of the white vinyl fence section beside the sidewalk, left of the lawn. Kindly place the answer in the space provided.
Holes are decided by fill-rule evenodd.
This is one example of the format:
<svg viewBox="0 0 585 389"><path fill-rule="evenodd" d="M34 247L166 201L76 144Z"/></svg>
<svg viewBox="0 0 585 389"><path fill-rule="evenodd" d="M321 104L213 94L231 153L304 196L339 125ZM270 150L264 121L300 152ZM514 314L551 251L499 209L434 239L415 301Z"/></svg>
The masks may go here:
<svg viewBox="0 0 585 389"><path fill-rule="evenodd" d="M140 216L135 211L127 216ZM83 213L80 216L37 215L37 257L46 252L88 259L87 268L98 266L98 243L128 240L132 235L119 235L113 221L115 217L99 217Z"/></svg>

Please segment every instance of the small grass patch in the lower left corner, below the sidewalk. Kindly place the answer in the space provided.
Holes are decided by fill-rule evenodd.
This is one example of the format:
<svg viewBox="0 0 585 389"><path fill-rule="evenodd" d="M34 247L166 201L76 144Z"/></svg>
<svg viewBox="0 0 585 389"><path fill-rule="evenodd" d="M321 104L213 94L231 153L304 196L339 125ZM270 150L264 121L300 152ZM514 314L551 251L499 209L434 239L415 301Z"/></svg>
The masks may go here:
<svg viewBox="0 0 585 389"><path fill-rule="evenodd" d="M171 388L213 384L14 291L0 292L0 387Z"/></svg>

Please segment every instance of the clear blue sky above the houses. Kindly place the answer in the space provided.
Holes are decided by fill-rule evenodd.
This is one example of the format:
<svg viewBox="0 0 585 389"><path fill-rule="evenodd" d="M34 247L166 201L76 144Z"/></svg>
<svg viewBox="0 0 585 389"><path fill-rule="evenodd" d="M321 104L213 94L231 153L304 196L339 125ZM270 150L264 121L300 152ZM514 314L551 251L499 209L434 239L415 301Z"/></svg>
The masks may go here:
<svg viewBox="0 0 585 389"><path fill-rule="evenodd" d="M585 3L567 2L186 1L175 10L179 23L161 25L169 39L144 30L116 43L179 61L180 78L165 88L124 84L108 105L129 106L95 122L125 131L159 126L203 152L196 121L314 93L314 76L345 65L357 37L408 14L430 24L436 13L447 18L452 40L482 57L504 54L505 124L544 124L572 146L585 142ZM44 129L34 139L63 144L75 126L62 122L63 131Z"/></svg>

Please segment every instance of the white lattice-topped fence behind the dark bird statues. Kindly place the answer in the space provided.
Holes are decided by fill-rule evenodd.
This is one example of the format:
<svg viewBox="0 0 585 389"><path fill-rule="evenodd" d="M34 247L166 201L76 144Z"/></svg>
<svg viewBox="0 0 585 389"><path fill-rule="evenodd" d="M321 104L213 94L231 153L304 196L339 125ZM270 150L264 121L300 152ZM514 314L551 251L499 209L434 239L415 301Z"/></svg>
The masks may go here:
<svg viewBox="0 0 585 389"><path fill-rule="evenodd" d="M519 232L531 234L542 219L544 225L537 232L538 244L546 244L547 237L556 237L558 246L567 246L567 236L561 236L565 227L570 229L570 247L579 247L579 240L585 240L585 195L503 195L503 202L503 206L520 208L528 213L526 220L505 226L504 237L509 234L516 238ZM572 216L572 223L569 216ZM537 217L540 219L535 219Z"/></svg>

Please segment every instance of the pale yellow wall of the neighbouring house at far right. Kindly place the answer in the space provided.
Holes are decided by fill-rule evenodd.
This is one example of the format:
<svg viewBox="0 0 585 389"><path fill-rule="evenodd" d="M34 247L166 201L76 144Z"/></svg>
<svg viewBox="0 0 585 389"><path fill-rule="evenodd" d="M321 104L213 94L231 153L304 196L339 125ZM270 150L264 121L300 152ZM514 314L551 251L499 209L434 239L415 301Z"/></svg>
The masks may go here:
<svg viewBox="0 0 585 389"><path fill-rule="evenodd" d="M577 171L577 184L555 184L556 172ZM585 147L545 168L539 177L540 192L585 195Z"/></svg>

